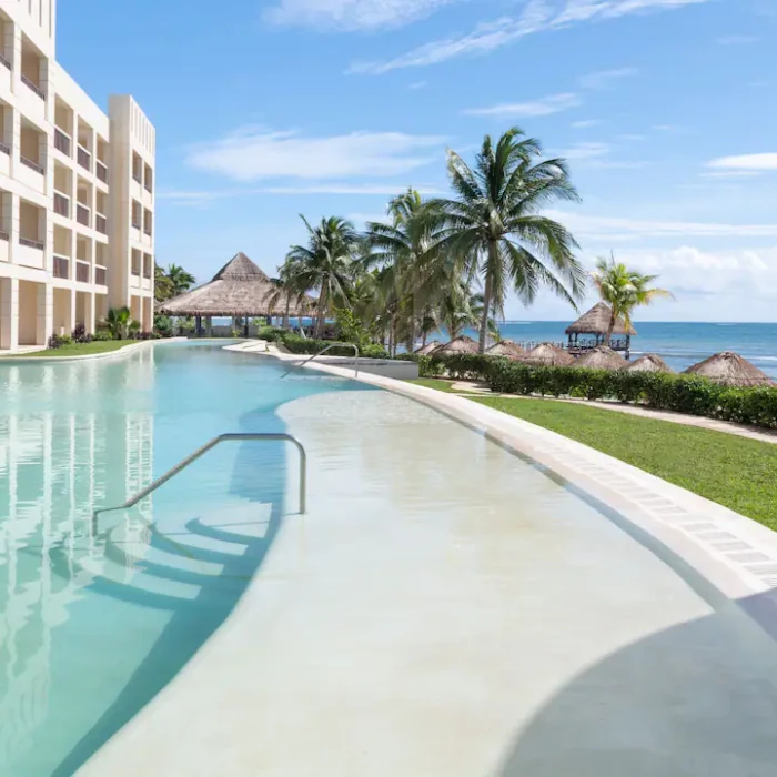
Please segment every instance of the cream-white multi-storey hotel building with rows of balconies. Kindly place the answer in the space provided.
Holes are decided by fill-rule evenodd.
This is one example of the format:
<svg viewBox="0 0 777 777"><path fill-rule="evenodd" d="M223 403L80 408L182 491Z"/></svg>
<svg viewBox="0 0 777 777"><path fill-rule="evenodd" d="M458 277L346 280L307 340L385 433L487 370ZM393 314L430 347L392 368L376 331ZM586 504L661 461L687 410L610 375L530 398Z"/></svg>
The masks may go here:
<svg viewBox="0 0 777 777"><path fill-rule="evenodd" d="M105 114L57 63L56 0L0 6L0 350L124 305L151 330L154 149L131 97Z"/></svg>

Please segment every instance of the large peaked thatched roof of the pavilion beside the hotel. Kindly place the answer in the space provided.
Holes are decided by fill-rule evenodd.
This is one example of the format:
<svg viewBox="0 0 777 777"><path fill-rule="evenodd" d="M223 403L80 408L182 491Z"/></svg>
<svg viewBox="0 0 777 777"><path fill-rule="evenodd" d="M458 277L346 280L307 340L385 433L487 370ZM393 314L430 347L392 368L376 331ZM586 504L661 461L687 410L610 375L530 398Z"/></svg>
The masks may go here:
<svg viewBox="0 0 777 777"><path fill-rule="evenodd" d="M210 283L159 305L167 315L222 316L291 316L310 315L315 300L286 300L278 296L278 286L244 254L231 259Z"/></svg>

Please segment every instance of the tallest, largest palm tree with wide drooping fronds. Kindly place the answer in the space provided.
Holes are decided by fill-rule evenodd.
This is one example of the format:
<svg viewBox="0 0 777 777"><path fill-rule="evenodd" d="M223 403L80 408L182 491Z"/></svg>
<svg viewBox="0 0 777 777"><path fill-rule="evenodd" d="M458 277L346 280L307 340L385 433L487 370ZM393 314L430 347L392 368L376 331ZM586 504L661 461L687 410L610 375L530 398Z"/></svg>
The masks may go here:
<svg viewBox="0 0 777 777"><path fill-rule="evenodd" d="M475 169L448 152L455 200L433 204L445 215L441 241L465 272L483 281L480 350L485 351L488 319L504 307L508 286L531 304L541 285L574 307L583 296L585 272L575 259L577 243L559 223L539 214L556 200L578 200L566 163L544 160L539 142L513 128L496 143L483 140Z"/></svg>

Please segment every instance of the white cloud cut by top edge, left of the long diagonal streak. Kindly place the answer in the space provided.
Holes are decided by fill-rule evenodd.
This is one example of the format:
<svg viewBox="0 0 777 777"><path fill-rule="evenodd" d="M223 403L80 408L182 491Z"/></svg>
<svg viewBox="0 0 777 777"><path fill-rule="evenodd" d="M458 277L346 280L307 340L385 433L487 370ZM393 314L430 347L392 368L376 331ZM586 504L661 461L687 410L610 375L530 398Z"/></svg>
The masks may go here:
<svg viewBox="0 0 777 777"><path fill-rule="evenodd" d="M274 24L334 30L400 27L457 0L281 0L264 12Z"/></svg>

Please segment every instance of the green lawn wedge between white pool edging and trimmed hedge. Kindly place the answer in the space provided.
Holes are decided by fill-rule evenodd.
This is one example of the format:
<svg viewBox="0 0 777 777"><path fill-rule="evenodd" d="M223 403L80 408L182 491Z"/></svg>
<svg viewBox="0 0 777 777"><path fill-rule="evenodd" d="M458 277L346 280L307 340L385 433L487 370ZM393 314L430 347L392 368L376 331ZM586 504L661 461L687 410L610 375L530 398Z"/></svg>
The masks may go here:
<svg viewBox="0 0 777 777"><path fill-rule="evenodd" d="M475 402L558 432L777 529L777 445L551 400Z"/></svg>

